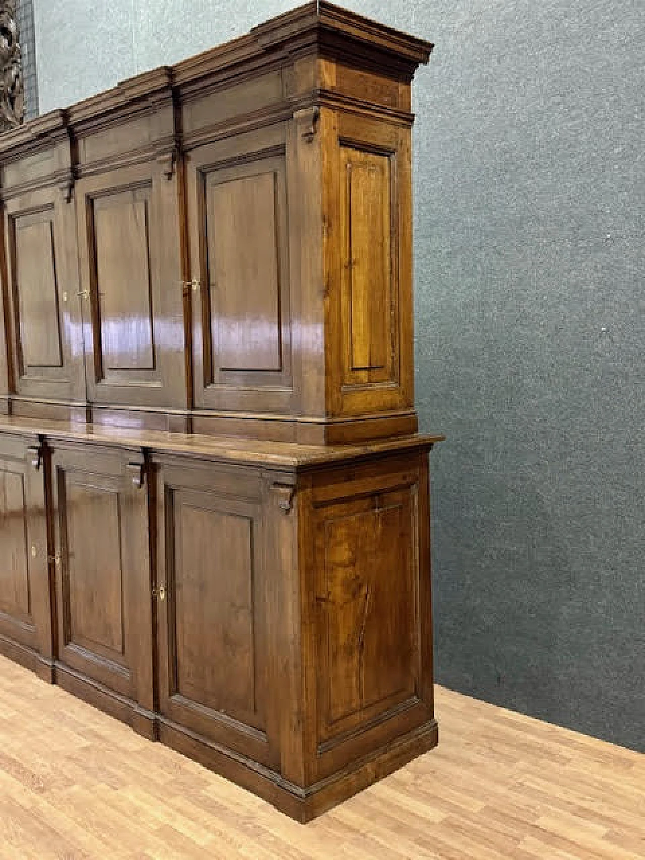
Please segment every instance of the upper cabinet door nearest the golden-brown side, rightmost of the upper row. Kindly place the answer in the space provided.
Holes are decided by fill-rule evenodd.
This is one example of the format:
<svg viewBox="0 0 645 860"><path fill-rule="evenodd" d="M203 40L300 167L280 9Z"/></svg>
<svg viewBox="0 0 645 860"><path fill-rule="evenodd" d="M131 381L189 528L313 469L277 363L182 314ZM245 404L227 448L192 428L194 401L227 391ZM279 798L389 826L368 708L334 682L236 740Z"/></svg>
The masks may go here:
<svg viewBox="0 0 645 860"><path fill-rule="evenodd" d="M283 126L187 156L197 407L292 402L287 190Z"/></svg>

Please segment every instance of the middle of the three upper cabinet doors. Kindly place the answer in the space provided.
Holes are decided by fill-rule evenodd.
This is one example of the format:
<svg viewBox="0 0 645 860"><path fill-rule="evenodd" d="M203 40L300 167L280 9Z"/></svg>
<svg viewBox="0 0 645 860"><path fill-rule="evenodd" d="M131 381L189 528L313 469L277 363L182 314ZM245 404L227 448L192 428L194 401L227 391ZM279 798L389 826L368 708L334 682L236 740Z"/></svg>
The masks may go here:
<svg viewBox="0 0 645 860"><path fill-rule="evenodd" d="M77 183L89 400L186 408L176 176L157 164Z"/></svg>

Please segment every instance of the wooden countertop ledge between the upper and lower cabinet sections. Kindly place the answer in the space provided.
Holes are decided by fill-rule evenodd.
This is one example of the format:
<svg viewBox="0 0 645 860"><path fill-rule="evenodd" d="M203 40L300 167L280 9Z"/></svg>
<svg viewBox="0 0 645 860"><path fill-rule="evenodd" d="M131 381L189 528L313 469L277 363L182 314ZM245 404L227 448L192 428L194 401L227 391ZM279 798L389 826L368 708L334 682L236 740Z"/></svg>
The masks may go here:
<svg viewBox="0 0 645 860"><path fill-rule="evenodd" d="M56 443L86 443L121 449L145 449L159 454L217 460L298 471L394 451L430 449L445 436L415 433L411 436L377 439L351 445L301 445L237 437L206 436L199 433L165 433L128 427L100 427L67 421L40 421L3 416L0 434L38 437Z"/></svg>

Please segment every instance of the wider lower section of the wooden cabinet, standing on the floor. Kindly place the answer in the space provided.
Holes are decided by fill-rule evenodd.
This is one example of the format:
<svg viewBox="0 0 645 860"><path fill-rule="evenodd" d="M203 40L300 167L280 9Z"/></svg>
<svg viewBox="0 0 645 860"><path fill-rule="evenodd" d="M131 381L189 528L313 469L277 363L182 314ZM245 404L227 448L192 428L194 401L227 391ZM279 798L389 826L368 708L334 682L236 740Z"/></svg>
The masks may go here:
<svg viewBox="0 0 645 860"><path fill-rule="evenodd" d="M0 650L309 820L437 742L429 447L0 435Z"/></svg>

